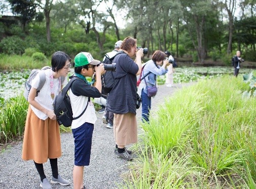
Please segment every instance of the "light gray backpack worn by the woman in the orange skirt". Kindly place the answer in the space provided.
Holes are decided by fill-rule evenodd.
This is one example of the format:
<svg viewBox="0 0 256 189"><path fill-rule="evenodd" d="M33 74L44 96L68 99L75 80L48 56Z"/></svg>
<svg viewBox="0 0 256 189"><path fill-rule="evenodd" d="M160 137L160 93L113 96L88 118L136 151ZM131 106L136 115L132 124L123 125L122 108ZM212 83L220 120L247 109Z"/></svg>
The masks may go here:
<svg viewBox="0 0 256 189"><path fill-rule="evenodd" d="M30 74L29 74L29 77L27 79L27 81L25 82L25 89L24 89L24 93L23 93L23 96L25 97L25 99L27 100L28 98L28 94L29 94L29 91L31 89L31 83L32 83L32 80L35 78L35 76L39 73L39 86L38 86L38 89L36 89L36 95L35 96L38 96L38 93L40 92L40 90L43 88L43 86L45 85L45 81L46 81L46 76L45 76L45 71L46 69L51 69L51 67L49 66L45 66L45 67L42 67L41 69L32 69ZM61 85L63 84L65 80L65 77L61 77Z"/></svg>

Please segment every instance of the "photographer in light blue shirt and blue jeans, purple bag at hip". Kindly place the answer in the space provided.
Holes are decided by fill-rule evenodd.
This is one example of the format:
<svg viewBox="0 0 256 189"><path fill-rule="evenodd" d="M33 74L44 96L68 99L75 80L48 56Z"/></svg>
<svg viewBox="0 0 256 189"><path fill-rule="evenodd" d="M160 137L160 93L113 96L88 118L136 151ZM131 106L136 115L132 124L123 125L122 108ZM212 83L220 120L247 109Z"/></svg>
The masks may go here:
<svg viewBox="0 0 256 189"><path fill-rule="evenodd" d="M151 109L151 97L156 95L151 93L152 88L156 88L157 75L164 75L167 73L168 59L165 58L164 52L156 50L152 55L152 59L145 63L141 74L141 106L142 106L142 122L149 123L149 115ZM161 66L162 65L162 66Z"/></svg>

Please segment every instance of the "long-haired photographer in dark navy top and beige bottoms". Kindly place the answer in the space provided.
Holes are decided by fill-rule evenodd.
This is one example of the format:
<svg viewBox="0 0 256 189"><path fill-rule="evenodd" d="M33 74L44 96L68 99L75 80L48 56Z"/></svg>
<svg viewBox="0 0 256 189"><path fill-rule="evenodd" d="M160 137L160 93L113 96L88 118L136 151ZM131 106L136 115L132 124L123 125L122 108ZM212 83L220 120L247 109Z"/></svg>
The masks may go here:
<svg viewBox="0 0 256 189"><path fill-rule="evenodd" d="M124 160L131 160L131 151L126 145L137 142L136 75L141 72L143 49L137 50L137 41L126 37L120 51L114 58L117 68L113 71L116 84L108 94L109 111L114 112L115 154ZM135 61L132 57L136 56Z"/></svg>

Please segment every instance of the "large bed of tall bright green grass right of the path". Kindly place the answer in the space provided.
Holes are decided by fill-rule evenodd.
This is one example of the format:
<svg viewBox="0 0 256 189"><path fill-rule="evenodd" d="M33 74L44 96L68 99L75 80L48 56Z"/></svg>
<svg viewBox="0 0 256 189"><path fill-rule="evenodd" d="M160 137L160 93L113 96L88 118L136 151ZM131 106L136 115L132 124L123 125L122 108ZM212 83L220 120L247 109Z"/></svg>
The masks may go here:
<svg viewBox="0 0 256 189"><path fill-rule="evenodd" d="M253 188L256 101L242 98L244 88L241 77L224 75L166 99L142 124L125 187Z"/></svg>

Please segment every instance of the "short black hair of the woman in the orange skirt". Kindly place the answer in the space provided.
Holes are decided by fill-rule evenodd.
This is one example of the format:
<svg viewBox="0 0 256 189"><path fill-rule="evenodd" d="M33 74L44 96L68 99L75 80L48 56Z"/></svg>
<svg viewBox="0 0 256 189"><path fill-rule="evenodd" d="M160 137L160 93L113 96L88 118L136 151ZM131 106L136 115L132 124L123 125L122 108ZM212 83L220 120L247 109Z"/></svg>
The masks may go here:
<svg viewBox="0 0 256 189"><path fill-rule="evenodd" d="M57 51L53 53L51 61L52 70L58 71L62 69L65 66L67 60L71 61L71 58L66 53L62 51Z"/></svg>

